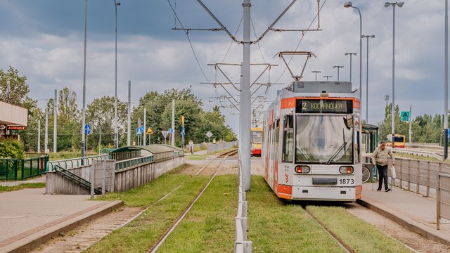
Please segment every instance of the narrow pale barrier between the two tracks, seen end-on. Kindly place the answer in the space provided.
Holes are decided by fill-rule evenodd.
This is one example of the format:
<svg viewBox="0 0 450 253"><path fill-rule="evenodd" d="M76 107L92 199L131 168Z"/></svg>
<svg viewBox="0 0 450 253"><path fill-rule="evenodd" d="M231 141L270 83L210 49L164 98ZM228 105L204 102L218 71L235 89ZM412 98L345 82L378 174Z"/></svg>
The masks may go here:
<svg viewBox="0 0 450 253"><path fill-rule="evenodd" d="M234 241L234 252L236 253L251 253L252 241L247 238L247 212L248 205L245 197L245 183L242 174L242 168L239 163L239 189L238 189L238 215L236 216L236 232Z"/></svg>

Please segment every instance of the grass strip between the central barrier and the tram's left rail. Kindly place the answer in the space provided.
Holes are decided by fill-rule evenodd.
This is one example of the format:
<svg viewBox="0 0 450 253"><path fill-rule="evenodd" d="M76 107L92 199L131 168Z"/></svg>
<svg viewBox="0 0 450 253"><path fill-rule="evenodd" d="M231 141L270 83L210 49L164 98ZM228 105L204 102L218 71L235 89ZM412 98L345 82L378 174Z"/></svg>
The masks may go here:
<svg viewBox="0 0 450 253"><path fill-rule="evenodd" d="M344 252L300 205L284 202L262 176L252 176L248 240L252 252Z"/></svg>

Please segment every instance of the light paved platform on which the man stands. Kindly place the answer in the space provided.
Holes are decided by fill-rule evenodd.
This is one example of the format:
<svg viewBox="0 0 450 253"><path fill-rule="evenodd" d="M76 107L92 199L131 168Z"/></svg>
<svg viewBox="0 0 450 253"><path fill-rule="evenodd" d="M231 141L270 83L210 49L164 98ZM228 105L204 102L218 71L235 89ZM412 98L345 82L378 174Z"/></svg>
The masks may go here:
<svg viewBox="0 0 450 253"><path fill-rule="evenodd" d="M450 245L450 221L441 219L436 229L436 199L401 188L376 191L378 183L364 183L359 204L372 209L425 238Z"/></svg>

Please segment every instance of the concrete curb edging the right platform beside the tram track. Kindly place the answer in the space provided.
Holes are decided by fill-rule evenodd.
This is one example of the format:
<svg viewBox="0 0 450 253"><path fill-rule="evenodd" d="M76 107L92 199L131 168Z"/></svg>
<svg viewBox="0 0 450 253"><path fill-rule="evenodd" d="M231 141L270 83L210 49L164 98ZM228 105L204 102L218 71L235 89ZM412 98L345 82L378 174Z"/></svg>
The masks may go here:
<svg viewBox="0 0 450 253"><path fill-rule="evenodd" d="M406 219L402 219L398 215L392 214L391 212L387 212L387 211L381 209L380 207L372 205L371 203L366 202L364 200L356 200L356 202L359 205L362 205L363 207L371 209L372 211L385 216L386 218L394 221L395 223L399 224L400 226L403 226L404 228L408 229L409 231L418 233L419 235L422 235L424 238L428 238L430 240L434 240L435 242L439 242L444 245L450 246L450 240L448 240L446 238L442 238L440 235L433 233L432 228L428 228L428 227L423 228L423 226L425 226L425 225L423 225L422 223L419 223L417 221L408 221Z"/></svg>

